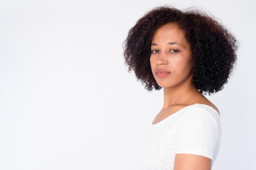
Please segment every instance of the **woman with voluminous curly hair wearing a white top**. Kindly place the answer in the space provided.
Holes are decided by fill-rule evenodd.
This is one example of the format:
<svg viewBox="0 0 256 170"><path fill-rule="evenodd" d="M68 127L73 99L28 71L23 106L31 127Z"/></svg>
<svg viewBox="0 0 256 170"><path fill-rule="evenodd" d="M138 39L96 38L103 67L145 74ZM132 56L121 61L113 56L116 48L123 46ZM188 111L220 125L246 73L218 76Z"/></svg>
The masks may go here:
<svg viewBox="0 0 256 170"><path fill-rule="evenodd" d="M164 88L164 106L139 148L142 169L211 170L220 148L220 111L204 95L223 89L237 49L234 35L197 9L157 7L130 29L128 71L148 91Z"/></svg>

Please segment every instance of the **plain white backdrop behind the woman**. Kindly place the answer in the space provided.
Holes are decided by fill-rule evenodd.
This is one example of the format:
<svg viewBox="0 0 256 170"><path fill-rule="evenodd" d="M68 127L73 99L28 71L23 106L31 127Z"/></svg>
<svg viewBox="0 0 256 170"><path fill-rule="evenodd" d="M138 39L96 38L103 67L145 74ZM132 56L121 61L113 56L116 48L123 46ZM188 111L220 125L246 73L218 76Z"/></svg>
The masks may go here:
<svg viewBox="0 0 256 170"><path fill-rule="evenodd" d="M222 142L213 170L255 170L255 4L250 0L0 0L0 169L139 170L137 147L163 107L124 65L128 30L155 6L197 6L240 42L211 96Z"/></svg>

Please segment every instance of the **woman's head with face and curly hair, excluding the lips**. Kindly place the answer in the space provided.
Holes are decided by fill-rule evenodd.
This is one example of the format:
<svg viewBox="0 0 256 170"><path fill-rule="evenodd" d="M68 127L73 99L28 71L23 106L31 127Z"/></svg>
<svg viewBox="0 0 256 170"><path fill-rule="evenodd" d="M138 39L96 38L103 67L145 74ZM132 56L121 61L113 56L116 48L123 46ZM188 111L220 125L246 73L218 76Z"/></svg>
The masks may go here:
<svg viewBox="0 0 256 170"><path fill-rule="evenodd" d="M168 6L148 11L124 43L128 71L133 70L148 91L191 81L209 95L224 88L238 48L234 35L207 13ZM160 78L160 68L170 74Z"/></svg>

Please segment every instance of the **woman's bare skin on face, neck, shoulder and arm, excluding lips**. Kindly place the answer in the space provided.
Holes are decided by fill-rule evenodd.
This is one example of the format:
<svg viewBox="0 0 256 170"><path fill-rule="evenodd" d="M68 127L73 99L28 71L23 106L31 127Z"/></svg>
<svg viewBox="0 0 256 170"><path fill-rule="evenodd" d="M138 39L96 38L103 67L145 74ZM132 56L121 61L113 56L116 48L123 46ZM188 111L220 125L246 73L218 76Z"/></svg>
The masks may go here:
<svg viewBox="0 0 256 170"><path fill-rule="evenodd" d="M177 24L165 24L153 35L150 65L157 84L164 88L164 106L153 124L195 103L209 105L219 113L218 108L192 83L193 63L190 44L184 37L184 31L179 29ZM170 74L158 77L157 69L165 69ZM211 159L200 155L176 154L174 170L211 170Z"/></svg>

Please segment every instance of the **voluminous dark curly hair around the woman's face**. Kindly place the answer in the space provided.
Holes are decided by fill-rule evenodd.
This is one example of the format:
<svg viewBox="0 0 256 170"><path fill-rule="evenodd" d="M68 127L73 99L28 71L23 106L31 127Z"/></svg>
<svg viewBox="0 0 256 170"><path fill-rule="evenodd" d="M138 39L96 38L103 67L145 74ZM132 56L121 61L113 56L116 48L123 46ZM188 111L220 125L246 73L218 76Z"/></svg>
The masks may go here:
<svg viewBox="0 0 256 170"><path fill-rule="evenodd" d="M193 62L193 84L202 94L211 95L224 88L236 64L238 41L227 28L205 11L190 7L183 11L164 5L141 17L124 41L124 64L133 70L137 81L151 91L160 87L151 71L150 55L153 34L160 26L177 23L190 44Z"/></svg>

